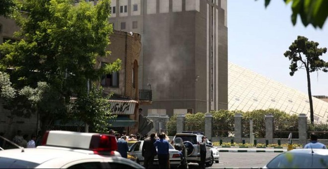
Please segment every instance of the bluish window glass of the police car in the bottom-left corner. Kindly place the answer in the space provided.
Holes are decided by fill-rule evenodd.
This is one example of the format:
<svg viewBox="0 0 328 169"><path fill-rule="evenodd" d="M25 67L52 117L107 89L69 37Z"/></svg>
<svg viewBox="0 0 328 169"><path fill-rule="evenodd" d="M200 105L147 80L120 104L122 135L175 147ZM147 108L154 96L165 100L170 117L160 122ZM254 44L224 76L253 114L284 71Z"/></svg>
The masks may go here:
<svg viewBox="0 0 328 169"><path fill-rule="evenodd" d="M33 169L39 165L28 161L0 157L1 169Z"/></svg>

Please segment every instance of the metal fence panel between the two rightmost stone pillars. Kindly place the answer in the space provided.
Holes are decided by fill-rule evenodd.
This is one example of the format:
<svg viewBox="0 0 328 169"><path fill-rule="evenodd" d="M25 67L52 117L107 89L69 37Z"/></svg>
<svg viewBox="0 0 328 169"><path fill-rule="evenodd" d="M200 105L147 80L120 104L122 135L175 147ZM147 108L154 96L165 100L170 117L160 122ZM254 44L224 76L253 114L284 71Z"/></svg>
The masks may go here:
<svg viewBox="0 0 328 169"><path fill-rule="evenodd" d="M288 138L289 133L292 133L293 139L299 138L297 118L275 118L273 125L273 138Z"/></svg>

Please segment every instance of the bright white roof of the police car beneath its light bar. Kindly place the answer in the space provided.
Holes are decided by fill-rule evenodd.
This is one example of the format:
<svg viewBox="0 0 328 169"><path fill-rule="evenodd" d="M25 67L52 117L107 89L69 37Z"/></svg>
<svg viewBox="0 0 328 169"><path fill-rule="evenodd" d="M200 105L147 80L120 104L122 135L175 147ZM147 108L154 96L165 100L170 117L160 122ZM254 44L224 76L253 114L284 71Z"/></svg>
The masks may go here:
<svg viewBox="0 0 328 169"><path fill-rule="evenodd" d="M24 149L22 152L21 149L8 149L0 151L0 157L4 158L11 158L23 161L29 161L33 163L42 164L46 161L57 159L57 158L69 158L69 159L82 159L82 158L103 158L102 156L90 154L88 152L92 151L85 151L79 150L74 151L71 149L70 151L62 149L49 149L49 148L42 148L46 146L39 146L41 148L29 148ZM83 152L84 151L84 152Z"/></svg>

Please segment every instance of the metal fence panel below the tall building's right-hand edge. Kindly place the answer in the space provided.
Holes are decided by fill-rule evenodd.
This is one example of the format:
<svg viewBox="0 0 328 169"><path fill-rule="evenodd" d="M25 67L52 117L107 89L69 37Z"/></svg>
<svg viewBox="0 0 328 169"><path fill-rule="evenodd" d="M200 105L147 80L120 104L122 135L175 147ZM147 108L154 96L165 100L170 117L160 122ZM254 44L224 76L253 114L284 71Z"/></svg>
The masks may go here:
<svg viewBox="0 0 328 169"><path fill-rule="evenodd" d="M212 137L229 137L235 133L235 120L214 119L212 120Z"/></svg>

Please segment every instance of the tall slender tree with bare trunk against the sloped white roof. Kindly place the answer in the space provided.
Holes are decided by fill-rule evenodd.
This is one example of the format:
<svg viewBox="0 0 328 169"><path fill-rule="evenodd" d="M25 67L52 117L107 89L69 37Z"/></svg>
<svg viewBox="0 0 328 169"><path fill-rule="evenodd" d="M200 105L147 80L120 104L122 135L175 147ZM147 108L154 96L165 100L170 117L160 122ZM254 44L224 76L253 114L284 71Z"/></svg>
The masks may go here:
<svg viewBox="0 0 328 169"><path fill-rule="evenodd" d="M310 73L315 71L317 72L320 70L323 72L328 72L328 63L320 59L320 56L322 56L323 53L327 52L327 48L318 48L318 46L318 42L308 41L308 38L304 36L298 36L297 40L295 40L292 45L290 45L289 50L284 53L284 56L291 61L289 66L289 69L291 71L289 73L290 76L293 76L294 73L299 69L306 70L311 113L310 118L312 124L314 122L314 115ZM299 66L298 63L300 63L301 65Z"/></svg>

